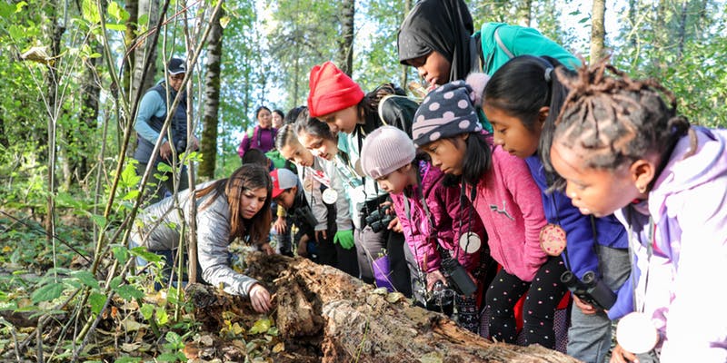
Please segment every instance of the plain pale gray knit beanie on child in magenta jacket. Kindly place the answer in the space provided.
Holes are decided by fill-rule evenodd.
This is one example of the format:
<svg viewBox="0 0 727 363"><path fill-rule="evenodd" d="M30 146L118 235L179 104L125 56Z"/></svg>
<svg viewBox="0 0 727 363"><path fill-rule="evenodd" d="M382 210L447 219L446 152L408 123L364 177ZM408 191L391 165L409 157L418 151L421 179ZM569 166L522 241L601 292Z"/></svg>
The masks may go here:
<svg viewBox="0 0 727 363"><path fill-rule="evenodd" d="M373 179L389 175L412 162L416 147L406 132L382 126L369 133L361 148L361 167Z"/></svg>

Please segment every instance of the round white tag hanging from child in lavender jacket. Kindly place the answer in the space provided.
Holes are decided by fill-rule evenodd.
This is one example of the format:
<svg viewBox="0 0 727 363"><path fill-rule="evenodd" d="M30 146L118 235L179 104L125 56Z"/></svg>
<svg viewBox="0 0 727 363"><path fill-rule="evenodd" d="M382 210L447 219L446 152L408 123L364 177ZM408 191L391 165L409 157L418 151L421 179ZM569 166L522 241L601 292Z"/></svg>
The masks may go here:
<svg viewBox="0 0 727 363"><path fill-rule="evenodd" d="M659 341L659 333L652 319L642 312L626 315L616 326L616 341L626 351L642 354L652 350Z"/></svg>

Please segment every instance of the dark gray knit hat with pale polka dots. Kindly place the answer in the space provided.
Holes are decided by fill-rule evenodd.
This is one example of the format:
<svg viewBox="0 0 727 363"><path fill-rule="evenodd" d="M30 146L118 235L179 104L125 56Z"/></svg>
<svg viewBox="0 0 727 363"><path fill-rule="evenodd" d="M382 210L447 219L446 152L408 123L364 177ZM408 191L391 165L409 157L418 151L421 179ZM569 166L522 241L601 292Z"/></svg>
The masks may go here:
<svg viewBox="0 0 727 363"><path fill-rule="evenodd" d="M479 88L479 84L477 87ZM426 95L414 114L414 143L423 146L460 133L482 131L483 127L473 106L473 103L479 105L481 100L482 90L475 92L464 81L454 81L437 87Z"/></svg>

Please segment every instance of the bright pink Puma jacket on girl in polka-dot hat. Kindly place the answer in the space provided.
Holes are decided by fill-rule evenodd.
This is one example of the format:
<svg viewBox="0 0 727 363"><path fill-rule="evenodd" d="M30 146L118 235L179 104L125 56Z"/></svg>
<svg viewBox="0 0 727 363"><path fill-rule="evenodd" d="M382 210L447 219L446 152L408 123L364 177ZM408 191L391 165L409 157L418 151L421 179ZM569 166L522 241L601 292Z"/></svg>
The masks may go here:
<svg viewBox="0 0 727 363"><path fill-rule="evenodd" d="M473 204L493 259L520 280L532 281L547 259L538 240L545 215L540 189L525 161L495 146L493 167L477 183Z"/></svg>

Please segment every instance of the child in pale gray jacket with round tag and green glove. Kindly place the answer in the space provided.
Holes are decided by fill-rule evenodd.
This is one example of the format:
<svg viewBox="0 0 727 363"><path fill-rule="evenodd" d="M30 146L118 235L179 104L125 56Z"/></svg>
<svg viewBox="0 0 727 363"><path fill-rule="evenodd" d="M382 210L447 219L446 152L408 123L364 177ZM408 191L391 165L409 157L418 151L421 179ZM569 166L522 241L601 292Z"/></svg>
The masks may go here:
<svg viewBox="0 0 727 363"><path fill-rule="evenodd" d="M323 260L323 262L357 277L356 251L353 250L354 225L351 221L349 203L341 178L335 172L333 163L314 157L310 151L305 149L295 136L293 124L285 124L278 131L275 137L275 147L280 150L285 159L295 163L298 170L302 172L301 178L306 182L317 185L319 189L323 185L324 191L322 194L316 193L318 197L314 204L323 207L323 213L320 215L316 213L318 221L327 221L327 223L322 226L324 229L316 226L316 240L325 244L333 241L335 246L335 249L331 251L333 252L330 256L331 260Z"/></svg>

